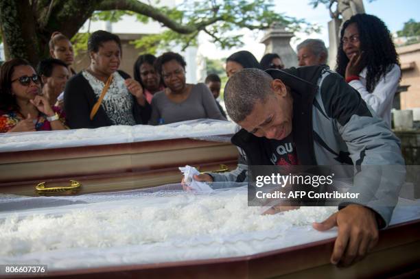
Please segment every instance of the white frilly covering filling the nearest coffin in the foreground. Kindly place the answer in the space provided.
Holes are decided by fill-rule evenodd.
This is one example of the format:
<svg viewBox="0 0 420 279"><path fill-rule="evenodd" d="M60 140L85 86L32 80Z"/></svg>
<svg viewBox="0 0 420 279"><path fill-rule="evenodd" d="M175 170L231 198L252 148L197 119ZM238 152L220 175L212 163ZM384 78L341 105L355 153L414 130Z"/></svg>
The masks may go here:
<svg viewBox="0 0 420 279"><path fill-rule="evenodd" d="M205 194L168 184L74 197L8 195L0 199L0 264L60 270L246 256L336 236L311 226L335 210L261 215L248 206L246 186ZM419 200L399 199L391 224L419 216Z"/></svg>

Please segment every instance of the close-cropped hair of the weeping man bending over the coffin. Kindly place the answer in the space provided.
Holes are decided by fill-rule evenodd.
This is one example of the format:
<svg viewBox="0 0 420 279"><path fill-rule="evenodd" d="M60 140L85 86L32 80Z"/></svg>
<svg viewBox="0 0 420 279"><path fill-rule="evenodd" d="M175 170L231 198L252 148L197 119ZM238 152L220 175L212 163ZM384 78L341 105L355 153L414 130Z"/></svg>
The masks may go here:
<svg viewBox="0 0 420 279"><path fill-rule="evenodd" d="M224 87L224 104L229 117L236 123L243 121L257 101L265 102L274 94L272 77L259 69L243 69L229 78Z"/></svg>

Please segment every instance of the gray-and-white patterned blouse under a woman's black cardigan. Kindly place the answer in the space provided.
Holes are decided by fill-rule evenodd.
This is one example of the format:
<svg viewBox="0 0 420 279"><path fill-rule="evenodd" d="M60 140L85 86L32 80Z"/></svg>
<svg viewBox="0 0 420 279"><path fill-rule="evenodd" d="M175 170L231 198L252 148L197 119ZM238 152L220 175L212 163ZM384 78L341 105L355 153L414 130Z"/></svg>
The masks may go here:
<svg viewBox="0 0 420 279"><path fill-rule="evenodd" d="M86 70L82 71L82 75L89 82L95 96L99 99L105 83ZM113 75L113 82L110 84L101 106L114 125L136 125L132 114L134 106L132 95L124 84L124 78L118 72L113 73Z"/></svg>

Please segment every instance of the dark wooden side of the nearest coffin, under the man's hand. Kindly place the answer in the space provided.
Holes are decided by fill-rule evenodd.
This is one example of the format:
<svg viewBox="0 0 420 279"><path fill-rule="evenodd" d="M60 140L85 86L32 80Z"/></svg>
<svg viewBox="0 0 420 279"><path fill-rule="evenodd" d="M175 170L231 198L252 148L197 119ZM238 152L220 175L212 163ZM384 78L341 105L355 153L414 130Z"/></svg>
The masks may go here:
<svg viewBox="0 0 420 279"><path fill-rule="evenodd" d="M359 263L344 269L329 263L334 241L335 238L331 238L252 256L51 271L43 277L388 278L420 274L420 219L380 231L380 241L375 249Z"/></svg>

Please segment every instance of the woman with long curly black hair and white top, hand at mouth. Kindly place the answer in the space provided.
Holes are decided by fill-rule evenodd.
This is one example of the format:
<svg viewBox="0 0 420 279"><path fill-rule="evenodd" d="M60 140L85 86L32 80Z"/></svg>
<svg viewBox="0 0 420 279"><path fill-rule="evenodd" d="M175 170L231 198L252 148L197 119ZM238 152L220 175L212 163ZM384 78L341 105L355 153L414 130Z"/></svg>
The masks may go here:
<svg viewBox="0 0 420 279"><path fill-rule="evenodd" d="M385 23L356 14L342 25L336 71L390 127L390 110L401 77L398 54Z"/></svg>

